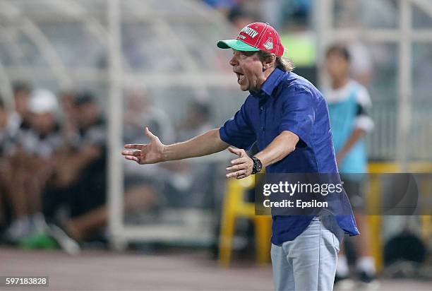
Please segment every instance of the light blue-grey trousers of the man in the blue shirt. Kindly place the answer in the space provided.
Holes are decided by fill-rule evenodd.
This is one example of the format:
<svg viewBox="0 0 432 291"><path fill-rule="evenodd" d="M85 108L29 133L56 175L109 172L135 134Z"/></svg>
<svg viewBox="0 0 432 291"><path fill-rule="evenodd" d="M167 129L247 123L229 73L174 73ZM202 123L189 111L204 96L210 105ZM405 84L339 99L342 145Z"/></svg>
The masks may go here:
<svg viewBox="0 0 432 291"><path fill-rule="evenodd" d="M281 245L272 244L275 290L333 289L340 246L337 237L340 236L336 237L329 230L335 227L334 223L322 220L325 218L313 218L306 230L292 241Z"/></svg>

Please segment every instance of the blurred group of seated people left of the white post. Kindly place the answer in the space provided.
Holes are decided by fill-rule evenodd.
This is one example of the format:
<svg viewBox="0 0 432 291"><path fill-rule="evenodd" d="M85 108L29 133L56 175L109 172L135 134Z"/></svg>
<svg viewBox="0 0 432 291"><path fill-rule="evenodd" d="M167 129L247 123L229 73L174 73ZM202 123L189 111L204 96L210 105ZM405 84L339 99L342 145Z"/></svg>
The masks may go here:
<svg viewBox="0 0 432 291"><path fill-rule="evenodd" d="M16 82L15 110L0 100L2 239L32 244L41 239L35 234L65 230L85 237L88 229L75 218L106 200L106 127L95 96L65 91L56 97Z"/></svg>

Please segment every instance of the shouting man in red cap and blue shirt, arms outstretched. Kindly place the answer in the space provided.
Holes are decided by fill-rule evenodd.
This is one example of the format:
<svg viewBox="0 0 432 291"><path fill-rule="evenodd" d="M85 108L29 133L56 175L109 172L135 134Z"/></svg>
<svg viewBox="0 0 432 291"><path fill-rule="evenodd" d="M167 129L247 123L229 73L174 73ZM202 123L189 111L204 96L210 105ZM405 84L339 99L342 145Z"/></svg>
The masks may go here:
<svg viewBox="0 0 432 291"><path fill-rule="evenodd" d="M147 128L150 143L125 145L122 154L139 164L193 158L229 151L238 157L227 178L267 173L337 173L328 109L306 79L292 73L282 58L284 47L268 23L251 23L235 40L217 43L233 49L229 61L241 90L249 95L232 119L184 143L164 145ZM259 153L246 150L257 142ZM352 215L335 215L332 224L358 234ZM273 216L272 266L276 290L332 290L339 240L313 215Z"/></svg>

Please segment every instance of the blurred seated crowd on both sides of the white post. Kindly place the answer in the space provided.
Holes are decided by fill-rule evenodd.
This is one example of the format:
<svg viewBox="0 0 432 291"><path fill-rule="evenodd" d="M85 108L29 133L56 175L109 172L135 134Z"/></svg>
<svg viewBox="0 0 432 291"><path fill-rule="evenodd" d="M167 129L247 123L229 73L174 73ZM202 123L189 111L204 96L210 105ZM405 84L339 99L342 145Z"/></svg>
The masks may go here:
<svg viewBox="0 0 432 291"><path fill-rule="evenodd" d="M13 84L13 104L11 112L0 98L1 241L75 252L77 242L104 240L107 128L99 99L85 90L56 96L19 81ZM125 143L145 143L144 124L166 143L184 141L211 128L210 109L192 101L185 118L173 126L143 88L130 90L125 98ZM124 167L127 213L212 203L203 201L208 197L203 191L210 191L211 184L197 187L209 173L208 164L139 167L125 162Z"/></svg>

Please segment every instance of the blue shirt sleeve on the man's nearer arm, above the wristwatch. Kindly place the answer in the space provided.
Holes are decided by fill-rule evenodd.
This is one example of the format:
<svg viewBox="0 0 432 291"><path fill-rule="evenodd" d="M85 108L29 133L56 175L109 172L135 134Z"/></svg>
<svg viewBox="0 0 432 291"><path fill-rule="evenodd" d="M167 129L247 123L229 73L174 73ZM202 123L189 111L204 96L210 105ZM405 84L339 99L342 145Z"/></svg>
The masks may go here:
<svg viewBox="0 0 432 291"><path fill-rule="evenodd" d="M282 103L282 122L279 133L291 131L306 145L311 145L311 130L315 122L313 94L304 87L294 88Z"/></svg>

